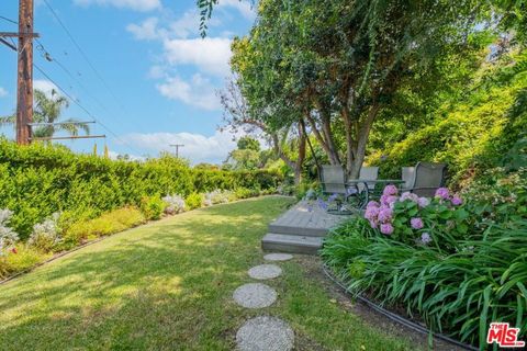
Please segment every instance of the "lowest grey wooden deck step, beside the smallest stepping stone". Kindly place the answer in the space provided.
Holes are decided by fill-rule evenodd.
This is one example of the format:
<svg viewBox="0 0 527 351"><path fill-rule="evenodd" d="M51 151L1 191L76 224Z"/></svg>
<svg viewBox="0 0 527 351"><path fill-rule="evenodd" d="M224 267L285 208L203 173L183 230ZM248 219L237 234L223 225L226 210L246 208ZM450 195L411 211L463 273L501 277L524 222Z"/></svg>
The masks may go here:
<svg viewBox="0 0 527 351"><path fill-rule="evenodd" d="M322 237L268 233L261 239L266 251L316 254L322 248Z"/></svg>

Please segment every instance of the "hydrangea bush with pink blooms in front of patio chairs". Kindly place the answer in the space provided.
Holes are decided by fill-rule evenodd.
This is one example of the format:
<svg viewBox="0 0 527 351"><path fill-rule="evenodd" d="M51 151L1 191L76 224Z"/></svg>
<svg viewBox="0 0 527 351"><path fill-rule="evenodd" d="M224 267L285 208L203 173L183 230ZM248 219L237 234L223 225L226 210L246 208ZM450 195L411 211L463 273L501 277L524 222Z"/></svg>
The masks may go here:
<svg viewBox="0 0 527 351"><path fill-rule="evenodd" d="M386 185L379 201L370 201L365 218L380 234L393 239L417 245L455 248L469 230L469 213L463 200L439 188L433 199L414 193L399 193Z"/></svg>

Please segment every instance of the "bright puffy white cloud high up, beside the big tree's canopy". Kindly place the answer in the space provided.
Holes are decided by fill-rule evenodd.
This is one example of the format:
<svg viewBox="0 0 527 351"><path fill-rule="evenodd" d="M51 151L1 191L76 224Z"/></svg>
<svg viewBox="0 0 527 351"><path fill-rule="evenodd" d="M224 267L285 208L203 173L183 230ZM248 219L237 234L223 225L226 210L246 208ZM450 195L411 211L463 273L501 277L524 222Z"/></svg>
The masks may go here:
<svg viewBox="0 0 527 351"><path fill-rule="evenodd" d="M165 58L170 65L193 65L201 71L226 77L231 70L231 39L205 37L165 39Z"/></svg>

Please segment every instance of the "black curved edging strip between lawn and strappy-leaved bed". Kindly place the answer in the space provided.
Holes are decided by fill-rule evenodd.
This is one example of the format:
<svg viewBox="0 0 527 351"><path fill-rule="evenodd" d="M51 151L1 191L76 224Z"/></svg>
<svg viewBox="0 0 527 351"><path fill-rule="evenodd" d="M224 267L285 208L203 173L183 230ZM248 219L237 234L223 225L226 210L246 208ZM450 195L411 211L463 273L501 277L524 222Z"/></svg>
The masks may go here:
<svg viewBox="0 0 527 351"><path fill-rule="evenodd" d="M340 287L341 290L345 291L345 293L347 295L351 295L351 293L349 292L349 290L344 285L344 283L336 276L334 276L329 271L328 271L328 268L327 265L324 263L322 265L323 270L324 270L324 274L326 274L327 278L329 278L338 287ZM417 331L419 333L423 333L423 335L433 335L434 338L437 338L439 340L442 340L442 341L446 341L446 342L449 342L449 343L452 343L452 344L456 344L457 347L460 347L460 348L463 348L466 350L471 350L471 351L478 351L479 349L478 348L474 348L470 344L467 344L467 343L463 343L463 342L460 342L458 340L455 340L455 339L451 339L449 337L446 337L441 333L437 333L437 332L434 332L429 329L427 329L426 327L422 326L422 325L418 325L410 319L406 319L400 315L396 315L381 306L379 306L378 304L373 303L372 301L361 296L361 295L355 295L352 294L352 296L355 298L357 298L358 301L360 301L361 303L363 303L365 305L367 305L368 307L374 309L375 312L380 313L381 315L390 318L391 320L393 321L396 321L401 325L403 325L404 327L406 328L410 328L414 331Z"/></svg>

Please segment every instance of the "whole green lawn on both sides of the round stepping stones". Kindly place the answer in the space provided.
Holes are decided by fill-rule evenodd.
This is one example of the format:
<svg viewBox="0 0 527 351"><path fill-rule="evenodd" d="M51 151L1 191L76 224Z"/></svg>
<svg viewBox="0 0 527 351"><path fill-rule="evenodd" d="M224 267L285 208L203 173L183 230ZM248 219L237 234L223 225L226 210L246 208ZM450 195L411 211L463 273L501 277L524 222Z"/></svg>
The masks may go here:
<svg viewBox="0 0 527 351"><path fill-rule="evenodd" d="M244 320L271 314L290 322L302 350L415 349L332 303L298 261L268 282L279 293L272 307L233 303L247 270L264 262L267 224L290 204L262 197L189 212L0 285L0 348L231 350Z"/></svg>

